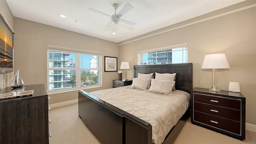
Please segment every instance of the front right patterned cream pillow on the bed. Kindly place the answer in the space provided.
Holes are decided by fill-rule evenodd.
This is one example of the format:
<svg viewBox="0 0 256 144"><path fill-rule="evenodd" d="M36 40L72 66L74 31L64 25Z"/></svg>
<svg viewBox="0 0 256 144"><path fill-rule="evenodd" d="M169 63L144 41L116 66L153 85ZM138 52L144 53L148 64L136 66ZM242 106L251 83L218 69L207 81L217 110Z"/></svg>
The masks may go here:
<svg viewBox="0 0 256 144"><path fill-rule="evenodd" d="M172 87L174 84L175 81L151 79L151 85L148 91L164 95L172 95Z"/></svg>

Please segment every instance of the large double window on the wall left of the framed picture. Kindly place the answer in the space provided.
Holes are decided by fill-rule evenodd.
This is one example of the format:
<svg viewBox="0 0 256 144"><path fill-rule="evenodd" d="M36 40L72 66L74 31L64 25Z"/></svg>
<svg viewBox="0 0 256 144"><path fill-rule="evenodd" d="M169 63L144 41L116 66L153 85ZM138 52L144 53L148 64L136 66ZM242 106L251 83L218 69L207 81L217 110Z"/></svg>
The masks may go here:
<svg viewBox="0 0 256 144"><path fill-rule="evenodd" d="M101 85L101 53L48 46L48 91Z"/></svg>

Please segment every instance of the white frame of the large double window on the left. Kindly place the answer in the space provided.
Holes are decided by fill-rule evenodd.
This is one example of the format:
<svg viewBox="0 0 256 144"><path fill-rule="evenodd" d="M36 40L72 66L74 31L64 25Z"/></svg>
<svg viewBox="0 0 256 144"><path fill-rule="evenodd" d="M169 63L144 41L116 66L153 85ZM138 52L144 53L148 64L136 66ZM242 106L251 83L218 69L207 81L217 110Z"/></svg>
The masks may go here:
<svg viewBox="0 0 256 144"><path fill-rule="evenodd" d="M51 46L47 45L47 90L50 94L56 94L56 93L63 93L63 92L69 92L69 91L78 91L81 89L91 89L96 87L102 87L102 53L99 52L93 52L93 51L85 51L80 49L71 49L66 47L57 47L57 46ZM76 53L76 67L70 68L70 67L49 67L49 50L52 51L63 51L63 52L69 52L69 53ZM98 68L80 68L80 54L85 55L97 55L98 56ZM54 57L54 55L52 55ZM60 90L49 90L49 70L75 70L76 71L76 87L74 88L66 88L66 89L60 89ZM80 71L81 70L98 70L99 71L99 78L98 78L98 85L90 85L86 87L80 86Z"/></svg>

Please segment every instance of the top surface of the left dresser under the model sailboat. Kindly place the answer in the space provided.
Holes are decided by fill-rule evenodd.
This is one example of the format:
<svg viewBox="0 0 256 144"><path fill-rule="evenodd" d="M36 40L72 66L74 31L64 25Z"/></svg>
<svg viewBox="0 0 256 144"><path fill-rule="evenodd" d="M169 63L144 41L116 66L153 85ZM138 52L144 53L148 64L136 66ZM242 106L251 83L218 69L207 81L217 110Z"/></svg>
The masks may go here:
<svg viewBox="0 0 256 144"><path fill-rule="evenodd" d="M28 91L28 90L34 90L33 95L28 97L38 97L38 96L48 95L44 84L24 85L18 88L6 87L2 89L0 93L15 93L15 92ZM27 97L21 97L21 98L27 98ZM8 101L8 100L14 100L14 99L3 99L0 101Z"/></svg>

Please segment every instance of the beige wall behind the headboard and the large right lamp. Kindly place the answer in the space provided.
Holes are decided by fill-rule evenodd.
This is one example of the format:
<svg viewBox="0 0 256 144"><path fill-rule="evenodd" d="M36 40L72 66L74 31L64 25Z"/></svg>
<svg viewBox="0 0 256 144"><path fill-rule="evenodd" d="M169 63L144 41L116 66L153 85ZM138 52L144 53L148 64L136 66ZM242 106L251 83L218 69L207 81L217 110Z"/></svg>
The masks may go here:
<svg viewBox="0 0 256 144"><path fill-rule="evenodd" d="M120 60L132 67L126 71L127 78L133 78L137 51L180 43L188 43L193 87L212 86L211 70L201 69L204 56L226 54L230 69L218 70L218 88L228 90L230 81L239 82L246 97L246 122L256 124L256 7L120 45Z"/></svg>

